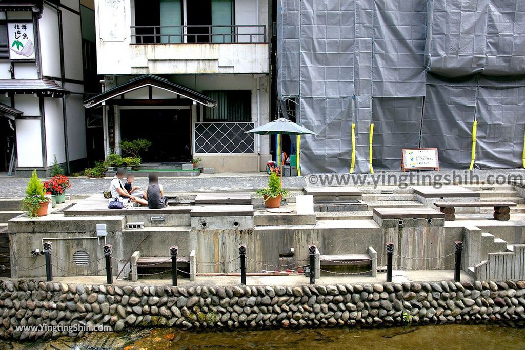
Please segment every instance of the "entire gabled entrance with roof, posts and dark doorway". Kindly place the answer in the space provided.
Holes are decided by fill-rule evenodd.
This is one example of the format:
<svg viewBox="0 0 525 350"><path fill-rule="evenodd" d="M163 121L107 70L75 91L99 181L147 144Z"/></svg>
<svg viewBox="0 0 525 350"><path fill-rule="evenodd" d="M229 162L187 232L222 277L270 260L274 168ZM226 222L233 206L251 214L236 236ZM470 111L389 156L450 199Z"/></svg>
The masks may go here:
<svg viewBox="0 0 525 350"><path fill-rule="evenodd" d="M109 106L104 133L107 151L120 140L148 139L144 163L188 162L193 154L192 122L201 109L216 103L203 94L166 79L143 75L104 91L84 103L86 108Z"/></svg>

